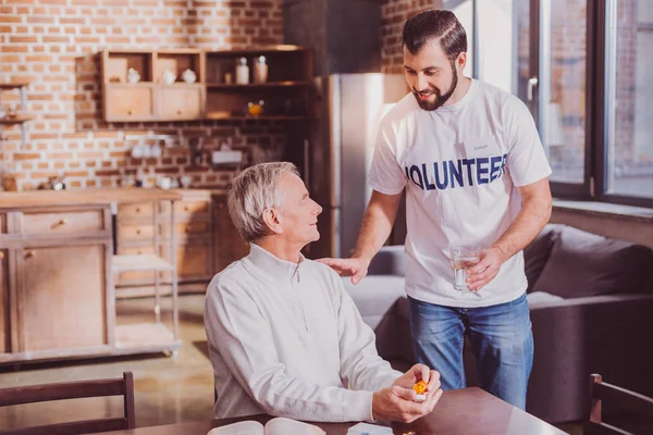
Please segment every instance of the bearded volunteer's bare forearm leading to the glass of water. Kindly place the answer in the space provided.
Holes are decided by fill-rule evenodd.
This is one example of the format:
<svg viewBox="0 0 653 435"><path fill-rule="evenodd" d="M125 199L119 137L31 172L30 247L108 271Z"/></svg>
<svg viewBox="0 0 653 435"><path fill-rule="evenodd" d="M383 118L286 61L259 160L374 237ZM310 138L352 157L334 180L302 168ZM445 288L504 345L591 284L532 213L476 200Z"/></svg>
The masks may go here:
<svg viewBox="0 0 653 435"><path fill-rule="evenodd" d="M533 198L525 202L513 224L492 245L492 248L500 250L503 261L508 260L540 234L550 217L550 198Z"/></svg>

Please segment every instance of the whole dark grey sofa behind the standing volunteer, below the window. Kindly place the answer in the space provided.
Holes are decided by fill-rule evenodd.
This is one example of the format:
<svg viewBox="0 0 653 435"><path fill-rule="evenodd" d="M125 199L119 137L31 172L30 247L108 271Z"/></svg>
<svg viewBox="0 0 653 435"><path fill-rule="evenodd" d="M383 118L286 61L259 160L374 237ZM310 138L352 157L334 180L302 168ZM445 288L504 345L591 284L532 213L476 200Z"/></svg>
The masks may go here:
<svg viewBox="0 0 653 435"><path fill-rule="evenodd" d="M525 259L535 346L527 411L552 423L583 419L590 373L653 396L653 250L549 224ZM403 275L404 248L392 246L357 286L343 278L379 353L399 370L415 362ZM468 349L468 385L477 385Z"/></svg>

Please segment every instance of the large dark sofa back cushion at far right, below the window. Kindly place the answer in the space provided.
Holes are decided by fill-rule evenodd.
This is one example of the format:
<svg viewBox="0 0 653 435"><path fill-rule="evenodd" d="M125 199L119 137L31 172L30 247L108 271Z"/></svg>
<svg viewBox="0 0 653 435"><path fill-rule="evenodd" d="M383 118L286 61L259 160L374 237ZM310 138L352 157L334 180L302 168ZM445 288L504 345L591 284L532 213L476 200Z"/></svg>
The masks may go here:
<svg viewBox="0 0 653 435"><path fill-rule="evenodd" d="M653 287L652 264L651 248L566 226L533 287L565 299L645 293Z"/></svg>

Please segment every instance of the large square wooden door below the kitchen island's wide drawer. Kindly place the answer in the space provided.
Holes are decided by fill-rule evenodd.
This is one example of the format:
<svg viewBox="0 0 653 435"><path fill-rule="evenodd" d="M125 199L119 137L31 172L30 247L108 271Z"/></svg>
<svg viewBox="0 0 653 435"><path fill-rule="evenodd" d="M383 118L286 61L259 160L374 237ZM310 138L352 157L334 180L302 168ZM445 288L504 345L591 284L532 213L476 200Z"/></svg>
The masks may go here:
<svg viewBox="0 0 653 435"><path fill-rule="evenodd" d="M109 241L27 245L20 251L16 277L19 350L108 346Z"/></svg>

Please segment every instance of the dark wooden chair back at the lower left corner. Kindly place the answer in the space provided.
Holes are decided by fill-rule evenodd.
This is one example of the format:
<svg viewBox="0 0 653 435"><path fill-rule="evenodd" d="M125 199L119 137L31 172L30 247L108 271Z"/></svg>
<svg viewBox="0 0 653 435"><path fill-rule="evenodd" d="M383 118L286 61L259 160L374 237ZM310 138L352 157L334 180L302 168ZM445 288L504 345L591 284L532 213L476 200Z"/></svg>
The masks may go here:
<svg viewBox="0 0 653 435"><path fill-rule="evenodd" d="M134 376L132 375L132 372L124 372L122 380L66 382L0 389L0 407L107 396L123 396L124 417L12 428L0 431L0 435L77 435L135 428Z"/></svg>

